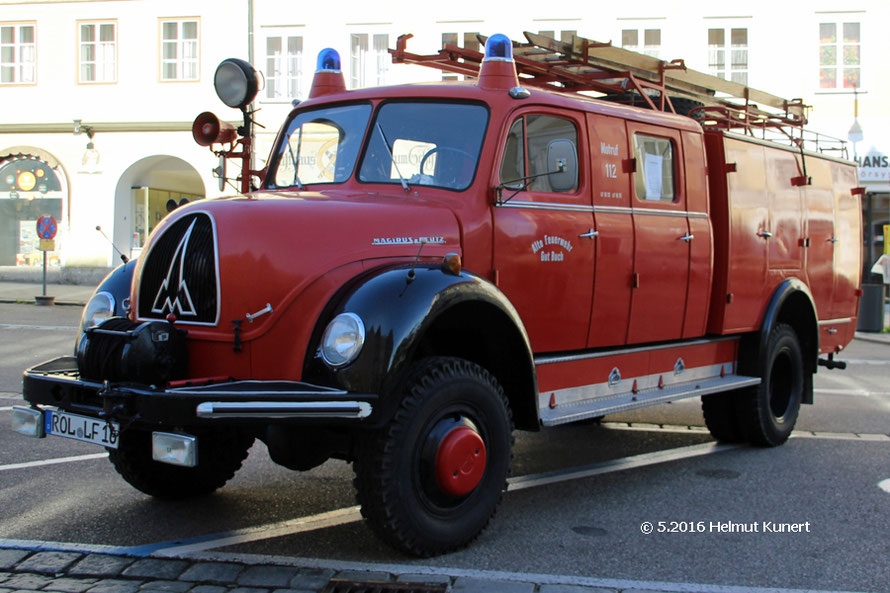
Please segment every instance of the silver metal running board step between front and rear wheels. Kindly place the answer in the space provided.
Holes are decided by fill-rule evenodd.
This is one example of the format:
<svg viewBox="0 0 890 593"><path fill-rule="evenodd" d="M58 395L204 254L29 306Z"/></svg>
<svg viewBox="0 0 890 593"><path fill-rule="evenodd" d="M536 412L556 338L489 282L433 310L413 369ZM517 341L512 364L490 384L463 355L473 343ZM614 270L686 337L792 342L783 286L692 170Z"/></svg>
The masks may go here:
<svg viewBox="0 0 890 593"><path fill-rule="evenodd" d="M647 379L648 377L643 377L640 381ZM646 382L648 383L648 381ZM759 384L760 377L731 374L722 377L719 375L703 377L699 380L674 383L663 387L656 385L640 389L637 380L620 380L618 377L617 381L613 380L607 384L572 387L541 393L538 396L538 403L541 424L556 426Z"/></svg>

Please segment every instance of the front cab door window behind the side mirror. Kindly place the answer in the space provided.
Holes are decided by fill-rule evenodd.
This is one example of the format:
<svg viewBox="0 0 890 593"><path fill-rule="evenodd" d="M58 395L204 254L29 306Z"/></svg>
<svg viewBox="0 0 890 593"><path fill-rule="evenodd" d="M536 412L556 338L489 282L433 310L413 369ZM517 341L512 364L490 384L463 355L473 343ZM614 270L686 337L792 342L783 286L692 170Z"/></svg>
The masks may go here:
<svg viewBox="0 0 890 593"><path fill-rule="evenodd" d="M523 115L510 126L501 161L500 180L506 187L529 191L573 193L578 189L578 131L565 118L551 115ZM571 178L560 172L566 165L569 147ZM534 179L529 179L534 177ZM526 185L527 180L527 185Z"/></svg>

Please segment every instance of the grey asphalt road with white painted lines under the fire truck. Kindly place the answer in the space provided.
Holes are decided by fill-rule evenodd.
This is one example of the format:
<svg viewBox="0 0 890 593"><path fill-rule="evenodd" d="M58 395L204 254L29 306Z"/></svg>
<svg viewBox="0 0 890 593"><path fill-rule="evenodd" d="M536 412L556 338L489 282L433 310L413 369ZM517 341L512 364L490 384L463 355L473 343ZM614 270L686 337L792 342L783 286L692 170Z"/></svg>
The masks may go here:
<svg viewBox="0 0 890 593"><path fill-rule="evenodd" d="M465 550L421 561L385 547L358 520L343 462L291 472L259 444L215 495L163 502L123 482L100 448L9 431L21 370L70 353L78 320L74 308L0 304L4 540L890 591L890 486L879 486L890 479L890 345L854 341L841 356L846 371L821 370L816 405L776 449L715 447L697 401L517 433L511 490L489 529ZM773 532L780 525L797 532Z"/></svg>

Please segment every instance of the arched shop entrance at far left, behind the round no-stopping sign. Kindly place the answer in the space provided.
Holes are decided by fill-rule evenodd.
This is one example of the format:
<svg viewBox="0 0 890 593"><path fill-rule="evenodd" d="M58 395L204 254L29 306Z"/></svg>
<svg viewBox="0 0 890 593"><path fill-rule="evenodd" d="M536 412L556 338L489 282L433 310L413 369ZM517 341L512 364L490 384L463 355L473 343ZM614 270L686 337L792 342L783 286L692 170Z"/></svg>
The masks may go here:
<svg viewBox="0 0 890 593"><path fill-rule="evenodd" d="M68 180L59 161L33 146L0 150L0 266L37 266L37 219L50 215L60 228L67 225ZM47 252L47 263L59 265L58 250Z"/></svg>

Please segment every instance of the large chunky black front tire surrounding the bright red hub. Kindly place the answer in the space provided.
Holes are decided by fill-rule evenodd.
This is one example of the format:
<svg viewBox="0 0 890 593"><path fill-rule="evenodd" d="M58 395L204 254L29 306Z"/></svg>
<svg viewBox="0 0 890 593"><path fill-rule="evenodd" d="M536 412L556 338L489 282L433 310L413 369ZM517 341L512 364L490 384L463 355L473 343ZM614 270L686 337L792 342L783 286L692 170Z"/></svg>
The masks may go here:
<svg viewBox="0 0 890 593"><path fill-rule="evenodd" d="M430 358L394 395L402 399L393 419L369 435L355 462L362 515L383 541L411 555L463 547L488 525L506 489L513 423L504 391L477 364ZM479 477L459 494L436 477L439 451L455 427L484 443Z"/></svg>

